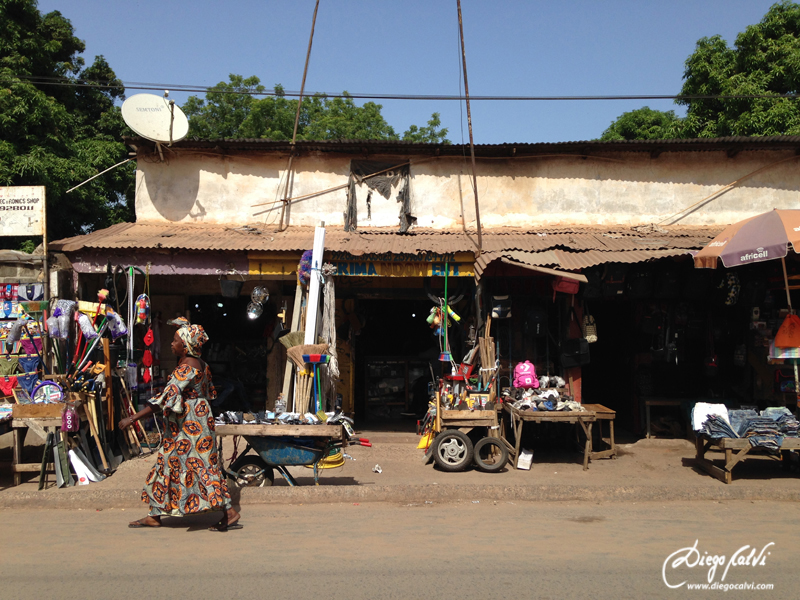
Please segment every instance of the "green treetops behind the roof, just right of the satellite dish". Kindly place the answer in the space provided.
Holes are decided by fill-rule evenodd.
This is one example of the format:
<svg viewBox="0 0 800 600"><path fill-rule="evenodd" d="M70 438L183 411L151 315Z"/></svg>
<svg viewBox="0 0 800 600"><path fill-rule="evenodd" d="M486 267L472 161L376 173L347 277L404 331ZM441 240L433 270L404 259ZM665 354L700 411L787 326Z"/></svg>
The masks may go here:
<svg viewBox="0 0 800 600"><path fill-rule="evenodd" d="M191 96L183 106L190 132L198 138L267 138L290 140L297 115L296 99L289 99L281 85L274 95L258 98L266 90L258 77L231 74L228 82L211 88L205 99ZM297 127L299 140L399 140L401 137L381 114L382 106L365 102L359 106L344 97L317 94L303 99ZM427 126L411 125L402 139L413 142L449 143L447 129L438 113Z"/></svg>

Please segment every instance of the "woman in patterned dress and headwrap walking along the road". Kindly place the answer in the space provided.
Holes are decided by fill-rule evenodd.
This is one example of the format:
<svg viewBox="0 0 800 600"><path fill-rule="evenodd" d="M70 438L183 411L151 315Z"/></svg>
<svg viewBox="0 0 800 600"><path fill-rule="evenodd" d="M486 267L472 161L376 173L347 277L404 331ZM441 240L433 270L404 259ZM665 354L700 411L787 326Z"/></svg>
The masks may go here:
<svg viewBox="0 0 800 600"><path fill-rule="evenodd" d="M156 464L142 491L142 501L150 505L150 512L128 527L161 527L162 516L223 511L222 519L209 529L241 529L240 515L231 506L225 476L220 470L222 457L217 452L214 416L209 404L217 393L208 365L200 360L208 336L202 326L191 325L183 317L168 323L178 326L172 341L178 366L160 396L119 422L120 429L125 429L134 421L163 412L166 427Z"/></svg>

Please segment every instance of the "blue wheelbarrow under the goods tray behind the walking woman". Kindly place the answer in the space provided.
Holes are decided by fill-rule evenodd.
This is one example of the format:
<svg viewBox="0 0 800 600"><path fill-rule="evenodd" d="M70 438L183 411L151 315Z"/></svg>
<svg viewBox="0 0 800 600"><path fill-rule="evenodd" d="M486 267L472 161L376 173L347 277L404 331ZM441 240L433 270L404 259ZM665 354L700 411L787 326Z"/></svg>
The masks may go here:
<svg viewBox="0 0 800 600"><path fill-rule="evenodd" d="M313 465L314 483L319 485L319 463L334 451L348 444L372 446L369 440L332 440L325 438L244 436L247 446L242 455L224 469L226 475L239 487L270 486L275 481L275 471L290 486L297 480L286 467ZM256 454L249 454L250 450Z"/></svg>

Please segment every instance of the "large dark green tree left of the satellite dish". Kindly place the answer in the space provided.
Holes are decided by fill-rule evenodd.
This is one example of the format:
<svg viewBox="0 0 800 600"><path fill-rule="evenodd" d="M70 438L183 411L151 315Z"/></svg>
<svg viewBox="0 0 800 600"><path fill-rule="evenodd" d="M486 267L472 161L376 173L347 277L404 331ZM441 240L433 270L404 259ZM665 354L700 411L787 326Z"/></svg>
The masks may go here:
<svg viewBox="0 0 800 600"><path fill-rule="evenodd" d="M0 0L0 23L0 184L46 187L50 239L132 220L132 164L66 194L126 156L114 71L102 56L85 67L70 21L35 0Z"/></svg>

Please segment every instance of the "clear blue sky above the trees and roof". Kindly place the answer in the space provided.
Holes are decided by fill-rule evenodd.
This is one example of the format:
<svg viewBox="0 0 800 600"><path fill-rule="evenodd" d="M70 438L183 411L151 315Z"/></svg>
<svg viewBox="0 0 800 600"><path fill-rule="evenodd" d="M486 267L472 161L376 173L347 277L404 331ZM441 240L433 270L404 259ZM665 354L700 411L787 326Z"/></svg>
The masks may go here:
<svg viewBox="0 0 800 600"><path fill-rule="evenodd" d="M733 44L773 0L462 0L472 95L676 94L703 36ZM211 86L229 73L299 90L314 0L40 0L124 82ZM459 94L455 0L321 0L309 92ZM137 93L129 90L129 94ZM179 104L189 94L172 93ZM361 102L361 101L359 101ZM442 115L468 142L457 101L381 100L402 133ZM621 113L669 100L472 103L476 143L599 137ZM463 128L463 137L462 137Z"/></svg>

